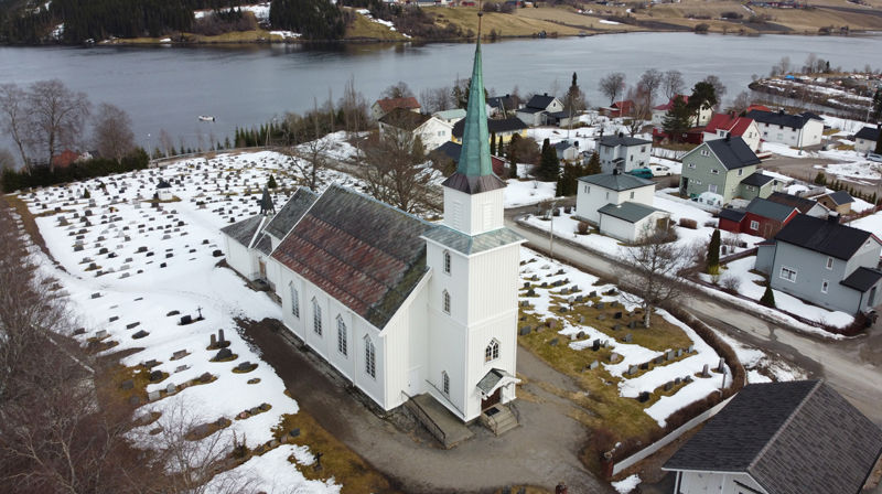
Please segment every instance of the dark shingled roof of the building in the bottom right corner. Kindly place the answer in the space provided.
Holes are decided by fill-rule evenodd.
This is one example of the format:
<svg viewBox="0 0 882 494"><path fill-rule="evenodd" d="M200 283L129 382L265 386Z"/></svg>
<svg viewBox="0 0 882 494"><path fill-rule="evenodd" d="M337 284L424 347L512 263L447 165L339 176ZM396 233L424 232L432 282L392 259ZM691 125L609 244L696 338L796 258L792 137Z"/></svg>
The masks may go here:
<svg viewBox="0 0 882 494"><path fill-rule="evenodd" d="M820 380L745 386L665 470L744 472L772 494L857 494L882 430Z"/></svg>

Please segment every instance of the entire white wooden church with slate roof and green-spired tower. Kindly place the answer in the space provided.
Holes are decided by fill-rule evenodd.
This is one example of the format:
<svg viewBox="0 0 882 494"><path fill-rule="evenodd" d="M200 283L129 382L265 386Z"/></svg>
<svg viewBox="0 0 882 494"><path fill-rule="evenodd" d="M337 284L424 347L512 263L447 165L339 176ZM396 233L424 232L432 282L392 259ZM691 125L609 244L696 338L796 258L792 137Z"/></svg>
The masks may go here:
<svg viewBox="0 0 882 494"><path fill-rule="evenodd" d="M358 192L300 189L223 229L227 262L265 280L283 322L390 410L429 394L467 422L515 399L520 244L493 174L481 45L462 155L428 223Z"/></svg>

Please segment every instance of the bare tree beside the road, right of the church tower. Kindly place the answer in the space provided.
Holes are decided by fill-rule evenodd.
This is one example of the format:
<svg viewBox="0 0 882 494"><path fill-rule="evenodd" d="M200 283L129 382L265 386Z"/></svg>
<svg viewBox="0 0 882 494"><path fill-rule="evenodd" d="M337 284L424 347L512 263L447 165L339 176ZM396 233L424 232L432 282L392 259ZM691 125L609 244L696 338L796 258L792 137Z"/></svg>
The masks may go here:
<svg viewBox="0 0 882 494"><path fill-rule="evenodd" d="M653 310L674 302L682 293L679 271L688 261L669 237L667 228L647 230L637 246L622 250L622 260L627 266L620 273L622 297L643 308L646 327L652 323Z"/></svg>

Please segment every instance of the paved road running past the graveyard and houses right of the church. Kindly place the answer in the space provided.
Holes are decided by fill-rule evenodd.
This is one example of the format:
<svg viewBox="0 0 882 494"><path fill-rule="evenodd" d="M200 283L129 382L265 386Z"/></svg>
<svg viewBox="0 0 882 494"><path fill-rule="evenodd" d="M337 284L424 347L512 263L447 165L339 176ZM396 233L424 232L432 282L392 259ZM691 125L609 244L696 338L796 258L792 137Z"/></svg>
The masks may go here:
<svg viewBox="0 0 882 494"><path fill-rule="evenodd" d="M547 235L514 222L517 215L526 212L535 212L535 206L506 211L506 226L526 237L530 247L547 251ZM607 279L616 279L623 269L599 254L560 241L555 241L555 255ZM882 425L882 329L879 324L867 336L837 342L774 326L734 304L700 292L685 298L682 304L699 319L736 340L777 354L803 367L813 377L824 377L871 420Z"/></svg>

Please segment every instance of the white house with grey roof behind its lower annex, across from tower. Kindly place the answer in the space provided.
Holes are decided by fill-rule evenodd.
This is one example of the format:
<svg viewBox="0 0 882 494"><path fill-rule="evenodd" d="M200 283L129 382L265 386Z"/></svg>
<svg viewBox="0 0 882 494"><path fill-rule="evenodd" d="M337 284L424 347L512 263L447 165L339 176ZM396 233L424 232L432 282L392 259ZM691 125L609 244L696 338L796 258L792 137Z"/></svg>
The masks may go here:
<svg viewBox="0 0 882 494"><path fill-rule="evenodd" d="M576 215L595 225L600 224L599 210L607 204L624 202L652 207L655 196L655 182L621 173L598 173L579 179L576 195Z"/></svg>

